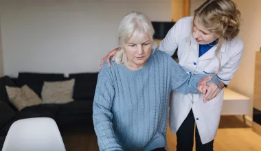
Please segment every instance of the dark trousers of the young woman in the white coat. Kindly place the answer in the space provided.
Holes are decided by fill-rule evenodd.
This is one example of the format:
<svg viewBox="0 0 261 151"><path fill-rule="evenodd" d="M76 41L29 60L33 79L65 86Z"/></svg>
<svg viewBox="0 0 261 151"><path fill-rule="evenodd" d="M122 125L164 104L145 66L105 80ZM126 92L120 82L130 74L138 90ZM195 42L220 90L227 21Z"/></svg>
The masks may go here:
<svg viewBox="0 0 261 151"><path fill-rule="evenodd" d="M177 131L177 151L192 151L194 143L195 119L192 110ZM213 141L201 143L201 138L196 127L196 151L213 151Z"/></svg>

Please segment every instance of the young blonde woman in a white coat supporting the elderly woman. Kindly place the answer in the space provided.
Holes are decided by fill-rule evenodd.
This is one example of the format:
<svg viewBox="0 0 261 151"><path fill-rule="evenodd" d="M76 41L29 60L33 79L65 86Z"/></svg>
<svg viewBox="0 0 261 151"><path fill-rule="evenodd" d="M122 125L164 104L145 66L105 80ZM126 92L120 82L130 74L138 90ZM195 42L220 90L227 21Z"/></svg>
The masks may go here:
<svg viewBox="0 0 261 151"><path fill-rule="evenodd" d="M229 84L243 52L239 30L240 12L233 1L208 0L194 10L194 16L177 21L158 49L172 56L179 48L179 65L187 73L218 75L222 84ZM102 63L109 62L116 52L117 49L111 51ZM207 89L207 85L203 89ZM196 150L213 150L224 91L213 92L215 94L207 98L201 93L172 92L170 129L177 133L177 151L192 151L195 131Z"/></svg>

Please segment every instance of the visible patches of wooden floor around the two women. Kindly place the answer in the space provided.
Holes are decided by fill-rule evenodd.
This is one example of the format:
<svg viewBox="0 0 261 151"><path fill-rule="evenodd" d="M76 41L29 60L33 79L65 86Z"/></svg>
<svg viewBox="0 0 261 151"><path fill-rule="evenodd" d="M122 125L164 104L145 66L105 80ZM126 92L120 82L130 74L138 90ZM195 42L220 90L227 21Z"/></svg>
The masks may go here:
<svg viewBox="0 0 261 151"><path fill-rule="evenodd" d="M97 137L93 132L63 135L67 151L99 150ZM176 150L177 137L167 130L167 143L170 151ZM220 126L214 141L215 151L261 151L261 136L243 124L236 117L221 117Z"/></svg>

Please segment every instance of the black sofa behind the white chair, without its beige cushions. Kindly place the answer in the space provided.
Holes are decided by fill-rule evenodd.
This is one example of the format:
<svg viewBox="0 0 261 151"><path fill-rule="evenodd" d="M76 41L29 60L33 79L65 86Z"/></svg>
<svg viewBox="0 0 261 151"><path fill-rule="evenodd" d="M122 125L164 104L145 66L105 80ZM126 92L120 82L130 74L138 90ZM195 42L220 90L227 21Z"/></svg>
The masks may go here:
<svg viewBox="0 0 261 151"><path fill-rule="evenodd" d="M68 104L40 104L17 111L9 102L5 86L27 84L41 97L44 81L75 79L73 102ZM63 73L19 73L18 78L0 78L0 150L14 121L31 117L51 117L56 121L60 132L93 131L92 106L98 73L72 73L65 78Z"/></svg>

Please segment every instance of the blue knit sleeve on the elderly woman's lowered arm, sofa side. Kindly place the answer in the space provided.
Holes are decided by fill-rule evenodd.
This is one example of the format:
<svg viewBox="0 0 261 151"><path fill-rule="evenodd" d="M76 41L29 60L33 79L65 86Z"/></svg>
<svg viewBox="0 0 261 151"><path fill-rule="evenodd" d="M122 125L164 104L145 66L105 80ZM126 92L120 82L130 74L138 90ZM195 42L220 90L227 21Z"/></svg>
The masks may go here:
<svg viewBox="0 0 261 151"><path fill-rule="evenodd" d="M115 89L104 65L98 75L98 82L93 101L93 125L98 137L98 145L102 151L122 150L113 131L113 114L111 108Z"/></svg>

